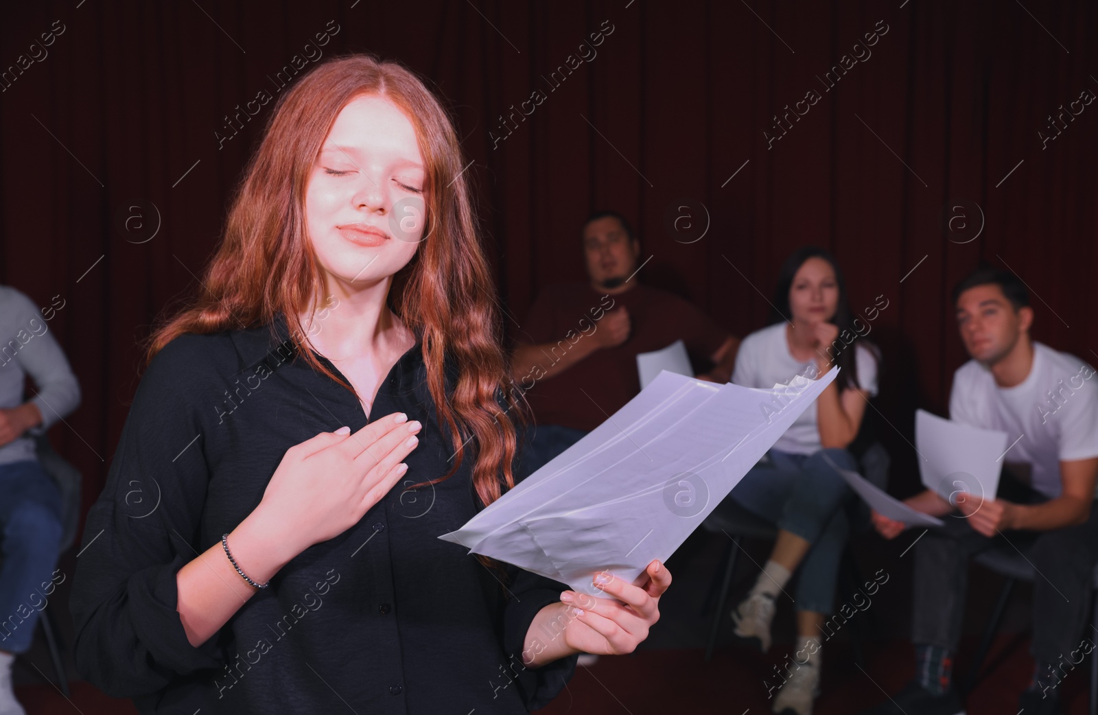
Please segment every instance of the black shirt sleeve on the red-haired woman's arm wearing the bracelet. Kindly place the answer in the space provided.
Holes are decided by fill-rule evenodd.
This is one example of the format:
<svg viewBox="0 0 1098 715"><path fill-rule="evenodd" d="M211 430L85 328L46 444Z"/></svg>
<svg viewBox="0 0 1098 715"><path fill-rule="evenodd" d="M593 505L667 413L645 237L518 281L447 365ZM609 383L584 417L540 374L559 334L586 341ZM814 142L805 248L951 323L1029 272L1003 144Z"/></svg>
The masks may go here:
<svg viewBox="0 0 1098 715"><path fill-rule="evenodd" d="M165 346L137 387L88 513L70 610L77 671L115 697L152 693L221 667L217 636L190 645L176 573L212 545L197 540L210 472L200 424L202 336Z"/></svg>

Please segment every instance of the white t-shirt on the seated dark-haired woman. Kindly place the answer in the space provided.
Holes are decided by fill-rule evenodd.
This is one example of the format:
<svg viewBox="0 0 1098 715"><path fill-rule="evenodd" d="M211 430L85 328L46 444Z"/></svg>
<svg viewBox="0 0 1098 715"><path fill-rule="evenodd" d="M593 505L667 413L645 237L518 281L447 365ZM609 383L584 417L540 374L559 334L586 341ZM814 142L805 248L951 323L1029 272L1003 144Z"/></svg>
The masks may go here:
<svg viewBox="0 0 1098 715"><path fill-rule="evenodd" d="M743 338L736 354L732 382L746 388L772 389L788 384L796 376L816 377L816 362L800 362L789 355L785 325L774 323ZM858 383L873 396L877 393L877 361L864 345L854 343L858 360ZM850 348L848 348L850 349ZM820 431L816 421L816 406L809 406L797 417L784 435L774 443L774 449L797 455L810 455L820 449Z"/></svg>

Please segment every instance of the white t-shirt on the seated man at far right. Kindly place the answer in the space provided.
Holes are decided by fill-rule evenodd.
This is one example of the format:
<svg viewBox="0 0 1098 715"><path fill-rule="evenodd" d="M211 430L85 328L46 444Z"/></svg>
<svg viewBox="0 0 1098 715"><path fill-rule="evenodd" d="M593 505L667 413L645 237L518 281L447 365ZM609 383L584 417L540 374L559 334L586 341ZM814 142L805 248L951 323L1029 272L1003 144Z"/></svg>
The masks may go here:
<svg viewBox="0 0 1098 715"><path fill-rule="evenodd" d="M1055 499L1061 461L1098 457L1098 379L1084 360L1034 342L1030 373L1012 388L976 360L957 368L950 418L1006 432L1008 445L1017 439L1005 461L1028 463L1030 485Z"/></svg>

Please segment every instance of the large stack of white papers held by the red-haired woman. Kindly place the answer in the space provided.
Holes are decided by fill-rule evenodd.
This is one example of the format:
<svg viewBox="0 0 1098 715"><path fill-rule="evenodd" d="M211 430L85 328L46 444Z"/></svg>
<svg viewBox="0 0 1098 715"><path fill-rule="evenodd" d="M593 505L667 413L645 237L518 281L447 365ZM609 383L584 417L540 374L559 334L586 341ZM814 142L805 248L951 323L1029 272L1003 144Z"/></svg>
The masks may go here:
<svg viewBox="0 0 1098 715"><path fill-rule="evenodd" d="M665 560L834 380L759 390L663 371L610 417L439 538L598 593Z"/></svg>

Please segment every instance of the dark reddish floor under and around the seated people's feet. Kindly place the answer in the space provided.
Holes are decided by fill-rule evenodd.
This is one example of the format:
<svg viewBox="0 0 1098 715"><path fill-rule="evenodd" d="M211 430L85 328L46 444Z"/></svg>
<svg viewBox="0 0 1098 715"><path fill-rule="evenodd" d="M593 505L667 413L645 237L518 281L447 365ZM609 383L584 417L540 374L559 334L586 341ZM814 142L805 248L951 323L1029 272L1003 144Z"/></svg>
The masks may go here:
<svg viewBox="0 0 1098 715"><path fill-rule="evenodd" d="M914 670L911 647L906 640L910 611L910 552L900 554L918 534L905 535L897 543L885 543L873 535L859 537L854 544L856 562L863 579L879 573L888 580L873 595L872 605L859 612L834 637L825 644L822 693L817 715L851 715L866 705L883 701L885 692L898 690ZM649 639L631 656L603 657L591 669L579 669L568 689L553 703L539 711L546 715L584 715L586 713L688 712L741 715L748 711L770 712L768 680L774 682L775 667L793 644L793 617L788 600L780 603L775 619L774 647L766 657L732 648L728 643L730 621L725 618L722 637L712 662L704 662L704 647L709 614L701 613L709 579L725 546L724 535L697 533L680 548L668 568L674 583L661 600L660 622ZM758 563L766 557L769 545L748 544L739 559L733 597L747 589L759 572ZM59 565L72 572L74 555ZM879 571L883 569L883 571ZM965 617L966 636L957 671L964 678L985 626L991 604L1002 581L974 567ZM59 621L65 643L71 641L67 617L69 583L61 584L51 602ZM788 589L787 589L788 590ZM842 601L840 601L841 603ZM864 602L862 602L864 603ZM1032 670L1027 649L1029 637L1030 589L1022 584L1002 619L1000 635L985 664L993 672L976 686L968 702L970 715L1013 715L1018 693ZM726 608L727 611L727 608ZM862 644L864 668L855 663L851 636ZM1098 638L1098 634L1091 639ZM1094 657L1094 656L1090 656ZM1065 678L1060 686L1068 715L1086 712L1087 670L1085 661ZM71 662L67 664L75 679ZM47 682L48 681L51 682ZM88 683L71 680L71 700L60 694L45 639L41 632L34 647L21 656L15 667L15 692L29 715L54 713L135 713L128 701L107 697Z"/></svg>

